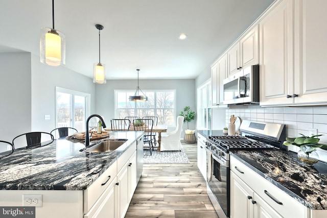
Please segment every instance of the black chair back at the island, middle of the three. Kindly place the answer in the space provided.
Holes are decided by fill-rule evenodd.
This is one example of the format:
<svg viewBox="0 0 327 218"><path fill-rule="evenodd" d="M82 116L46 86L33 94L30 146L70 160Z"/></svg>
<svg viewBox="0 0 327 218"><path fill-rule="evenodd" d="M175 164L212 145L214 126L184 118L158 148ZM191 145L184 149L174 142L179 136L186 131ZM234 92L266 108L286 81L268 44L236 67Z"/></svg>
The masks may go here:
<svg viewBox="0 0 327 218"><path fill-rule="evenodd" d="M16 136L12 140L14 148L27 147L31 148L34 146L47 146L54 141L54 136L48 132L28 132Z"/></svg>

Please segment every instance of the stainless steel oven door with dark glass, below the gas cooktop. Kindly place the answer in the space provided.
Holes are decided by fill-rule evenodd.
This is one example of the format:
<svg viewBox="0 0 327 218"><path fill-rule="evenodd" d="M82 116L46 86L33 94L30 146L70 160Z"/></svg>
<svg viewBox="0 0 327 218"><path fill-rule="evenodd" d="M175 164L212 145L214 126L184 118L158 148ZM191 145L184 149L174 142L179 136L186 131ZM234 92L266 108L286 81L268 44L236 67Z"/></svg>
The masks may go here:
<svg viewBox="0 0 327 218"><path fill-rule="evenodd" d="M207 185L208 196L219 217L229 217L229 161L220 159L208 149ZM212 157L211 160L209 157ZM212 161L212 162L211 162ZM217 204L218 203L218 204Z"/></svg>

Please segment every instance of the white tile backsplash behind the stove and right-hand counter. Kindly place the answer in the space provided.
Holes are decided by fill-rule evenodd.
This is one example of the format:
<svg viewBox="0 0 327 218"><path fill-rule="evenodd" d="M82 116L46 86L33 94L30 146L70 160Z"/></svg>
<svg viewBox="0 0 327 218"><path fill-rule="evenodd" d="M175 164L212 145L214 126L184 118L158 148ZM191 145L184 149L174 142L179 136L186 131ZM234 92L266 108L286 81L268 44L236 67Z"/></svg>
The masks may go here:
<svg viewBox="0 0 327 218"><path fill-rule="evenodd" d="M260 106L233 106L226 109L226 126L230 115L239 116L241 120L247 119L265 123L286 125L287 137L298 137L299 134L309 135L309 129L317 129L320 142L327 143L327 106L315 107L267 107ZM290 151L297 152L296 146L288 147ZM327 151L317 149L320 160L327 162Z"/></svg>

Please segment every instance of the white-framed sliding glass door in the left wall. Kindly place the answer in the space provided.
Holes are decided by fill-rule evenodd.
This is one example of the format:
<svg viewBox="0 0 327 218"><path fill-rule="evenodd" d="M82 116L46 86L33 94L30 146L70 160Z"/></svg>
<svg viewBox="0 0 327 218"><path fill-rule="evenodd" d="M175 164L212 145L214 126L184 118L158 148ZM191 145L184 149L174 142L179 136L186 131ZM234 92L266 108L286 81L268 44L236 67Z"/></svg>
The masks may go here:
<svg viewBox="0 0 327 218"><path fill-rule="evenodd" d="M85 131L90 94L56 87L56 128L73 127Z"/></svg>

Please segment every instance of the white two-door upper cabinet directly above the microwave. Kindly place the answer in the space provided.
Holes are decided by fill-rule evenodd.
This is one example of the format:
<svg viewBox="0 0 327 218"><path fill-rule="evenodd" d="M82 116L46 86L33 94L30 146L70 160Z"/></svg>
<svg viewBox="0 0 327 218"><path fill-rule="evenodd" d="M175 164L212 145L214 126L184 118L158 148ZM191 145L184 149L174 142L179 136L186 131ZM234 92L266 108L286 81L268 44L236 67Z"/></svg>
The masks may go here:
<svg viewBox="0 0 327 218"><path fill-rule="evenodd" d="M259 27L255 26L227 52L228 76L241 68L259 64Z"/></svg>

